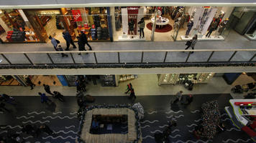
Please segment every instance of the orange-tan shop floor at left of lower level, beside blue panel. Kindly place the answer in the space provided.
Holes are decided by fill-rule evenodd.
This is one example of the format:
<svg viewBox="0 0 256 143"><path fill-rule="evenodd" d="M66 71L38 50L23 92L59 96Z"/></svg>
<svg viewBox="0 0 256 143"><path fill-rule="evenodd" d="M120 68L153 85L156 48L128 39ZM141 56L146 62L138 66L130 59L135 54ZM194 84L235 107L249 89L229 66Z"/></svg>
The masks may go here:
<svg viewBox="0 0 256 143"><path fill-rule="evenodd" d="M42 84L47 84L49 86L62 86L57 76L33 76L32 82L36 86L42 86Z"/></svg>

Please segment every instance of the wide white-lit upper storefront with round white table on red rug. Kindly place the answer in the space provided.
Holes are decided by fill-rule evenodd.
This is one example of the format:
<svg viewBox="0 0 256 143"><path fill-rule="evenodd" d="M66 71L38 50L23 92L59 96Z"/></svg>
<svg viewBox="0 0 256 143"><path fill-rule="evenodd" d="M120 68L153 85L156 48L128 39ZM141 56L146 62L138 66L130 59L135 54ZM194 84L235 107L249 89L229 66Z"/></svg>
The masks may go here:
<svg viewBox="0 0 256 143"><path fill-rule="evenodd" d="M114 40L187 41L195 34L198 40L224 40L233 9L211 6L115 7ZM140 35L142 18L145 20L145 36Z"/></svg>

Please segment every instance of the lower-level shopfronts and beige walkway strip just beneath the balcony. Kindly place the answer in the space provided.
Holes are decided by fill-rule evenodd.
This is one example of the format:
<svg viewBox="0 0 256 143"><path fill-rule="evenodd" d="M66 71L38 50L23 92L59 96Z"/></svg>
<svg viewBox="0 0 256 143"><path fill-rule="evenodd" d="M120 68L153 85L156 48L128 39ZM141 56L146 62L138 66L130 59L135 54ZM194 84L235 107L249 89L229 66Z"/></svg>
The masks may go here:
<svg viewBox="0 0 256 143"><path fill-rule="evenodd" d="M225 74L226 75L226 74ZM127 84L131 83L137 96L176 94L180 90L183 94L232 94L233 98L243 98L243 93L231 92L236 85L246 85L255 82L255 74L116 74L116 75L84 75L86 78L86 94L93 96L127 96ZM235 77L237 76L237 77ZM6 76L2 76L6 77ZM18 77L18 78L17 78ZM35 96L37 92L44 92L43 84L50 86L51 91L61 92L63 95L76 95L76 75L39 75L29 76L35 84L31 90L26 85L28 76L12 76L9 80L19 79L19 85L0 86L1 93L11 96ZM233 78L233 79L232 79ZM9 81L8 80L8 81ZM23 81L22 81L23 80ZM8 82L6 81L6 82ZM4 83L4 82L3 82ZM22 84L23 83L23 84ZM19 92L17 92L19 91Z"/></svg>

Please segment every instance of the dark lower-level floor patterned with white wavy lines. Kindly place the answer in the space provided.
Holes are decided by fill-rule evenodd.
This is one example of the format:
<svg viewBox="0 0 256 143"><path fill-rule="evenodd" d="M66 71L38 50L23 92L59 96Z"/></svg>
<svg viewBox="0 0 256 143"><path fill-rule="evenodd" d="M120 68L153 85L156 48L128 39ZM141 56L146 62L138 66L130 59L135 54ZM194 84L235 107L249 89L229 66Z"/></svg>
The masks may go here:
<svg viewBox="0 0 256 143"><path fill-rule="evenodd" d="M170 140L173 143L183 142L248 142L252 143L250 137L232 125L232 122L224 112L224 107L229 106L229 94L198 94L194 96L194 101L183 106L175 104L170 109L170 99L173 96L140 96L136 102L140 102L145 107L145 119L142 124L143 143L154 143L154 134L163 132L167 127L167 122L174 117L178 126L173 128ZM68 102L59 102L54 100L55 104L47 105L40 103L40 97L15 97L19 102L17 107L7 105L6 108L12 109L12 113L0 113L0 135L6 134L6 131L21 132L22 124L47 124L55 131L55 135L47 136L42 134L38 138L33 138L23 134L26 142L75 142L76 132L78 130L78 119L76 118L75 97L65 97ZM218 134L213 140L196 140L191 133L193 127L200 121L199 110L202 103L217 99L221 111L221 119L227 125L227 131ZM93 104L124 104L131 103L127 97L96 97Z"/></svg>

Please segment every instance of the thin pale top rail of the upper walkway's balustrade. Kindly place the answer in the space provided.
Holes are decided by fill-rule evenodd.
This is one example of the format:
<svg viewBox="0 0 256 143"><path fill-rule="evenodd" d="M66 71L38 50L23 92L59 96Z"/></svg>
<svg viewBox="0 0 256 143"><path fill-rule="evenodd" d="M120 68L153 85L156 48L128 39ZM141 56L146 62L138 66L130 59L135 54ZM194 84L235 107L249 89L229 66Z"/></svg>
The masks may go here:
<svg viewBox="0 0 256 143"><path fill-rule="evenodd" d="M118 53L118 52L165 52L165 51L256 51L256 49L157 49L157 50L99 50L99 51L4 51L0 54L56 54L56 53Z"/></svg>

